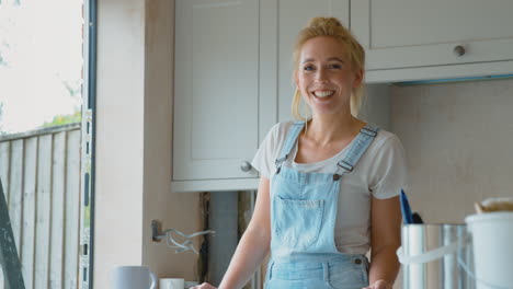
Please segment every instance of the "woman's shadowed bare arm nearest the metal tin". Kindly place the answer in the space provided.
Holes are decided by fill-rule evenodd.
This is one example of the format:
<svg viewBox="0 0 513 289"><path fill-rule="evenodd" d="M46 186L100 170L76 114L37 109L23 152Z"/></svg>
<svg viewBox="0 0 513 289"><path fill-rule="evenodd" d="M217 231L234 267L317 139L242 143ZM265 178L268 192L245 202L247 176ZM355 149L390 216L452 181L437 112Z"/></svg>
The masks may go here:
<svg viewBox="0 0 513 289"><path fill-rule="evenodd" d="M372 289L391 289L399 271L396 255L401 245L401 210L399 197L377 199L371 207L371 269Z"/></svg>

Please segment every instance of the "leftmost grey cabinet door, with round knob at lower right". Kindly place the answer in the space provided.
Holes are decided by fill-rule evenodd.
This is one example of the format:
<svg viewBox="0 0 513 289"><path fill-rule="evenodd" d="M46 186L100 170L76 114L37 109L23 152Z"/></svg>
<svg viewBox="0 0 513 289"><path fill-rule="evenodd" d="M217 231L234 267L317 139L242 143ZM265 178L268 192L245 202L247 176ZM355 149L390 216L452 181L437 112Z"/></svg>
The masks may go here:
<svg viewBox="0 0 513 289"><path fill-rule="evenodd" d="M259 144L259 1L176 0L174 65L173 180L249 177L241 163Z"/></svg>

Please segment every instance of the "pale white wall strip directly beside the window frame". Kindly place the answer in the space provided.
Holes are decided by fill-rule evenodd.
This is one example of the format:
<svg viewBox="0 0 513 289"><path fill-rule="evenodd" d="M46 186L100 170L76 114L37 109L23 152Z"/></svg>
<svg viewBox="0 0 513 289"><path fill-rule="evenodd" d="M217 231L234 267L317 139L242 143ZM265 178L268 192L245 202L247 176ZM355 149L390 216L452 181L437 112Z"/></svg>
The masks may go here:
<svg viewBox="0 0 513 289"><path fill-rule="evenodd" d="M94 288L142 261L144 5L99 1Z"/></svg>

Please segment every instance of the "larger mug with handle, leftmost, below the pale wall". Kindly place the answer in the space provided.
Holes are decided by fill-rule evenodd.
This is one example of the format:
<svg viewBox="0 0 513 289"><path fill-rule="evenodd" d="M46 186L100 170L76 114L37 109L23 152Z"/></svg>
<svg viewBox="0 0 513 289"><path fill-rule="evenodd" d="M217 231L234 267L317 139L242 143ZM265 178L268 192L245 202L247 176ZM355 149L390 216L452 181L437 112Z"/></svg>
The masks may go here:
<svg viewBox="0 0 513 289"><path fill-rule="evenodd" d="M157 276L147 266L117 266L113 273L113 289L156 289Z"/></svg>

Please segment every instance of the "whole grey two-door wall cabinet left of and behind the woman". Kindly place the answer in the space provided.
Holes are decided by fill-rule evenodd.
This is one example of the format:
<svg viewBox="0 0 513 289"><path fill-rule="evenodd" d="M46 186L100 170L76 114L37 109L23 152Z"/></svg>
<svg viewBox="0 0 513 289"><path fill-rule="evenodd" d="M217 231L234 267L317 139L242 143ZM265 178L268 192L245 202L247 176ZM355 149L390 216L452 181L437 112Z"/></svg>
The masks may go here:
<svg viewBox="0 0 513 289"><path fill-rule="evenodd" d="M294 39L308 20L349 25L349 0L176 0L172 192L254 189L249 166L292 119Z"/></svg>

